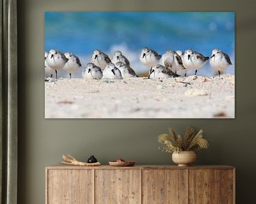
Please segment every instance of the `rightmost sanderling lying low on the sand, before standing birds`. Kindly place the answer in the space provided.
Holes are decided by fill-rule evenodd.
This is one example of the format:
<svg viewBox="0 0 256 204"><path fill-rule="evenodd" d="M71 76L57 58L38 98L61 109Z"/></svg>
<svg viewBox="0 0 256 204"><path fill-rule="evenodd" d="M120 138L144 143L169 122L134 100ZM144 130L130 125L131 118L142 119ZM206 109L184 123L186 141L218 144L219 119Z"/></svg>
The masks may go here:
<svg viewBox="0 0 256 204"><path fill-rule="evenodd" d="M180 75L172 72L171 69L164 67L161 64L157 64L152 67L149 73L149 79L163 79L171 77L180 77Z"/></svg>

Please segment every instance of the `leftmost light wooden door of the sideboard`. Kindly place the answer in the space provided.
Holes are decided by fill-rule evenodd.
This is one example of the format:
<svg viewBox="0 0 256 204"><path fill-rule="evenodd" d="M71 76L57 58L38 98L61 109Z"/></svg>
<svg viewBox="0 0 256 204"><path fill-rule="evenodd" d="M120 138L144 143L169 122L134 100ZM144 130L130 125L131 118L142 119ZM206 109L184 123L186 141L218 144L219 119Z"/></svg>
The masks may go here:
<svg viewBox="0 0 256 204"><path fill-rule="evenodd" d="M48 169L47 204L92 204L92 170Z"/></svg>

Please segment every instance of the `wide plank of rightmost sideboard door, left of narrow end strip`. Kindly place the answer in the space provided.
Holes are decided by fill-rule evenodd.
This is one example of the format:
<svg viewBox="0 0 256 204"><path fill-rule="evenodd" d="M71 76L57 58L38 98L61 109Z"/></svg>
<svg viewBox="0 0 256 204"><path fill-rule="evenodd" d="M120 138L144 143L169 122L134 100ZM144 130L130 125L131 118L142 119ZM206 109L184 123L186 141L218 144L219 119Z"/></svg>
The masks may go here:
<svg viewBox="0 0 256 204"><path fill-rule="evenodd" d="M220 170L189 169L188 203L220 203Z"/></svg>

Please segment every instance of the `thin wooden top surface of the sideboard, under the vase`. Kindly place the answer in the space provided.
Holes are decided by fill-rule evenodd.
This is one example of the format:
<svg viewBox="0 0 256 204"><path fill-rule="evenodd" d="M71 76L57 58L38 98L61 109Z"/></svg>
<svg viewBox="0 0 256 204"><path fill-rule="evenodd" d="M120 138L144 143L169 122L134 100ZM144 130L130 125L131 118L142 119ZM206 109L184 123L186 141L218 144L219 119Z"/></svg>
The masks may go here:
<svg viewBox="0 0 256 204"><path fill-rule="evenodd" d="M203 166L174 166L174 165L134 165L134 166L68 166L54 165L46 166L46 169L235 169L228 165L203 165Z"/></svg>

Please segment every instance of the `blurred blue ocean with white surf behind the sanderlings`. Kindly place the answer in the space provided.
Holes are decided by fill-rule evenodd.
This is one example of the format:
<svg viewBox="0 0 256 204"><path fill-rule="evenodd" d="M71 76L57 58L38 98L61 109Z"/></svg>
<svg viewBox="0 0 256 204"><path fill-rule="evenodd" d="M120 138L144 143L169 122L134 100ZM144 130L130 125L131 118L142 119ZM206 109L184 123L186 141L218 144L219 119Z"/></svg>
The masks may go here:
<svg viewBox="0 0 256 204"><path fill-rule="evenodd" d="M142 47L159 54L166 50L192 48L210 57L214 48L230 55L233 65L225 73L235 74L234 12L46 12L45 49L78 55L82 67L90 62L93 50L112 58L122 51L138 73L147 72L139 62ZM81 77L80 73L74 77ZM193 73L188 73L193 74ZM215 75L207 63L198 75ZM60 75L68 77L68 73Z"/></svg>

